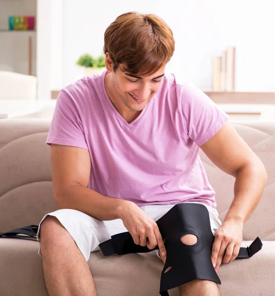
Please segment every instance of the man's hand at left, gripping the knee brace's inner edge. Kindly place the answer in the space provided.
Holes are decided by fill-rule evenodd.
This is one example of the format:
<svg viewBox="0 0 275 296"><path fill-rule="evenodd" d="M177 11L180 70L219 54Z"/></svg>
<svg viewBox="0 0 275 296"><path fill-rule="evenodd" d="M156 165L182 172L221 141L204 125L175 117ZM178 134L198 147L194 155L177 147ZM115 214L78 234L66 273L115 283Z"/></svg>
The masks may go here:
<svg viewBox="0 0 275 296"><path fill-rule="evenodd" d="M134 243L152 250L159 246L160 254L165 254L165 245L157 223L151 219L135 203L127 203L120 215L124 226L133 237ZM147 239L148 238L148 239Z"/></svg>

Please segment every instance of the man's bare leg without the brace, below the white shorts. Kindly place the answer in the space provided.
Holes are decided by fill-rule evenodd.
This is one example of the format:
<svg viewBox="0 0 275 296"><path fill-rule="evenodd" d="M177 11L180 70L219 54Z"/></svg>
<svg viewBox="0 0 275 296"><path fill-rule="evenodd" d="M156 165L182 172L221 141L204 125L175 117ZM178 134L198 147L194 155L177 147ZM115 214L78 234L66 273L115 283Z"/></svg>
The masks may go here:
<svg viewBox="0 0 275 296"><path fill-rule="evenodd" d="M86 259L56 217L40 225L40 250L49 296L97 295Z"/></svg>

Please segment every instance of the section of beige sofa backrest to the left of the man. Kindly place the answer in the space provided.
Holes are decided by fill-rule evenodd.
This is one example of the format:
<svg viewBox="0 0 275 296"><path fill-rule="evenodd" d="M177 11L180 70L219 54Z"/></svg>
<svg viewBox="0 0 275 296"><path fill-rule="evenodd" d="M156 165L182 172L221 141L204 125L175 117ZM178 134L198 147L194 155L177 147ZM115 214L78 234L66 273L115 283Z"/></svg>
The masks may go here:
<svg viewBox="0 0 275 296"><path fill-rule="evenodd" d="M38 225L57 210L52 194L50 120L0 119L0 232Z"/></svg>

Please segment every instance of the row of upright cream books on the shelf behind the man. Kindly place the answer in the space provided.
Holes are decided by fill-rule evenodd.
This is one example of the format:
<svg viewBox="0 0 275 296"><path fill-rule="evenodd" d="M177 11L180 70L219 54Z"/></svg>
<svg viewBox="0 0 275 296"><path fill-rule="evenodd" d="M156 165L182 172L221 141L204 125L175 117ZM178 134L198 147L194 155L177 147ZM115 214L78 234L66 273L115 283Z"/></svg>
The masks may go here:
<svg viewBox="0 0 275 296"><path fill-rule="evenodd" d="M230 46L212 59L212 91L235 90L236 47Z"/></svg>

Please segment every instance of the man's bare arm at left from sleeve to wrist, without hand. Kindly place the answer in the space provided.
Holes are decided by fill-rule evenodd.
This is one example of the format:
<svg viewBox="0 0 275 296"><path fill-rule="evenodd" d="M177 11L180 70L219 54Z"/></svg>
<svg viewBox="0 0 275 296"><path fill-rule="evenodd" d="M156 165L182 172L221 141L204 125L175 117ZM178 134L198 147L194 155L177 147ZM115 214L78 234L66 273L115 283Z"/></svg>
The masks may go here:
<svg viewBox="0 0 275 296"><path fill-rule="evenodd" d="M51 144L53 195L59 209L73 209L101 221L121 218L130 201L88 188L91 159L87 149Z"/></svg>

